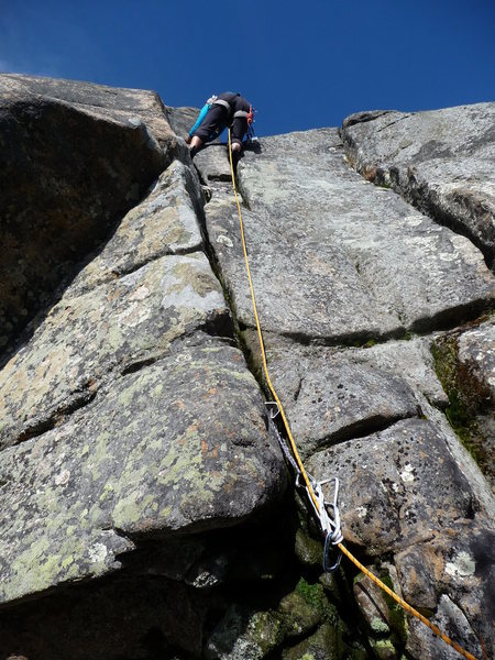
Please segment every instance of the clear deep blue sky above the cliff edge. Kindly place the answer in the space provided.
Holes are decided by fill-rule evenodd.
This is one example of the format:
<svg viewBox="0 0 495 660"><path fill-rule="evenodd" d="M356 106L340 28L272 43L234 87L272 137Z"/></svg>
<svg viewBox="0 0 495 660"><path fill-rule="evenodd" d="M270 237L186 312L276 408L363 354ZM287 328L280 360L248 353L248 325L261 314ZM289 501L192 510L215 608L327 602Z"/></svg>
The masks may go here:
<svg viewBox="0 0 495 660"><path fill-rule="evenodd" d="M0 0L0 70L241 91L258 135L495 100L493 0Z"/></svg>

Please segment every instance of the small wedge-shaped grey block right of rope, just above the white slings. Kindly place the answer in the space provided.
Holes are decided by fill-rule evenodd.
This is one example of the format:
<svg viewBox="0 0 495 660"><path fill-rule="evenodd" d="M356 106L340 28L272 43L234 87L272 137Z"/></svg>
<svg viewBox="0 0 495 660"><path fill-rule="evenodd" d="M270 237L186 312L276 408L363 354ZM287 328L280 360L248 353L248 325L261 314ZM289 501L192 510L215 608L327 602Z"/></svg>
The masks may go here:
<svg viewBox="0 0 495 660"><path fill-rule="evenodd" d="M420 410L399 375L356 363L352 351L294 345L271 352L270 365L305 458Z"/></svg>

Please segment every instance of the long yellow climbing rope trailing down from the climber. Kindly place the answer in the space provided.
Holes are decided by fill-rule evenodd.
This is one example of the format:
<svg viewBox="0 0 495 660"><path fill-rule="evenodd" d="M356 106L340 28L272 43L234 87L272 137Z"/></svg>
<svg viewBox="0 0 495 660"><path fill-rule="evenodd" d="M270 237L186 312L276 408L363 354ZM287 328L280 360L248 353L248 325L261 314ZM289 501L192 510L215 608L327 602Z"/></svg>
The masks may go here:
<svg viewBox="0 0 495 660"><path fill-rule="evenodd" d="M240 230L241 230L241 242L242 242L242 250L244 253L244 262L245 262L245 270L248 273L248 279L249 279L249 284L250 284L250 292L251 292L251 301L253 305L253 312L254 312L254 320L256 322L256 332L257 332L257 340L260 343L260 351L261 351L261 356L262 356L262 362L263 362L263 372L266 378L266 384L268 386L268 389L274 398L274 400L276 402L277 406L278 406L278 410L280 413L280 417L282 420L284 422L284 428L285 431L287 433L287 438L289 440L290 443L290 449L293 451L294 458L296 460L297 466L300 470L301 476L305 481L306 484L306 490L312 501L312 504L315 505L316 510L319 510L319 501L317 498L317 496L315 495L315 491L314 487L311 485L311 481L305 470L305 466L302 464L302 461L299 457L299 452L297 450L297 446L296 442L294 440L294 436L290 431L290 426L288 424L287 420L287 416L285 414L284 410L284 406L282 405L282 402L277 395L277 393L275 392L275 388L272 384L272 380L270 377L270 373L268 373L268 364L266 361L266 353L265 353L265 345L263 342L263 336L262 336L262 331L261 331L261 324L260 324L260 318L257 316L257 307L256 307L256 299L254 296L254 286L253 286L253 279L251 277L251 268L250 268L250 261L248 257L248 249L246 249L246 244L245 244L245 237L244 237L244 226L242 222L242 213L241 213L241 205L239 202L239 196L238 196L238 189L235 186L235 174L234 174L234 168L233 168L233 162L232 162L232 141L231 141L231 132L229 129L229 161L230 161L230 173L231 173L231 177L232 177L232 188L233 188L233 194L235 197L235 204L238 206L238 213L239 213L239 226L240 226ZM345 557L348 559L350 559L350 561L358 566L358 569L360 571L362 571L366 578L370 578L370 580L372 582L374 582L377 586L380 586L380 588L382 588L386 594L388 594L392 598L394 598L394 601L396 603L398 603L406 612L408 612L409 614L411 614L413 616L415 616L416 618L418 618L420 622L422 622L426 626L428 626L428 628L430 628L430 630L437 635L438 637L440 637L440 639L443 639L443 641L446 644L448 644L449 646L451 646L453 649L455 649L458 651L458 653L460 653L461 656L463 656L464 658L468 658L468 660L476 660L476 658L474 656L472 656L471 653L469 653L468 651L465 651L461 646L459 646L455 641L453 641L452 639L450 639L450 637L448 637L447 635L444 635L435 624L432 624L429 619L427 619L425 616L422 616L422 614L420 614L417 609L415 609L414 607L411 607L411 605L409 605L408 603L406 603L406 601L404 601L400 596L398 596L394 591L392 591L392 588L389 588L386 584L384 584L382 582L382 580L380 580L378 578L376 578L376 575L374 575L371 571L369 571L366 569L366 566L364 566L346 548L345 546L340 542L337 543L337 548L339 548L339 550L341 552L343 552L343 554L345 554Z"/></svg>

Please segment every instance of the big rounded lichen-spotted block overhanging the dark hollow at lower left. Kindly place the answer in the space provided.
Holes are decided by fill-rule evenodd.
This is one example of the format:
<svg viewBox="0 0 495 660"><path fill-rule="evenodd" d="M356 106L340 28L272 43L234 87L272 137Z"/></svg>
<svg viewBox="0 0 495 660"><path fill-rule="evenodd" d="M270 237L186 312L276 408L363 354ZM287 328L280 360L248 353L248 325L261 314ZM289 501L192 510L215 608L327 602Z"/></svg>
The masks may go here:
<svg viewBox="0 0 495 660"><path fill-rule="evenodd" d="M185 345L3 450L1 601L114 570L128 536L226 527L278 497L264 416L237 349Z"/></svg>

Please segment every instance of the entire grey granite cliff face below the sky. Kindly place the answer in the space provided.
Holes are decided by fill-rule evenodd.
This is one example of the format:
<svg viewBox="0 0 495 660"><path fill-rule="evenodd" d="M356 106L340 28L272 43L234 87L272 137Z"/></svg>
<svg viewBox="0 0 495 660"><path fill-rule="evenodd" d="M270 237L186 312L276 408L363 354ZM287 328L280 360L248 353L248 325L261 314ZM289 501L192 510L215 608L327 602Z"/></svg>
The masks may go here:
<svg viewBox="0 0 495 660"><path fill-rule="evenodd" d="M337 576L321 573L321 538L287 488L264 405L226 145L193 163L182 139L197 110L153 92L23 76L0 85L0 141L19 175L6 208L16 227L37 218L54 242L55 191L57 208L67 204L61 250L75 245L66 267L26 231L15 239L32 255L25 268L3 253L0 264L18 278L1 289L4 315L14 288L18 301L35 284L45 296L22 336L12 320L2 332L12 339L0 372L0 650L451 658L345 559ZM16 146L14 111L32 117ZM433 158L444 198L454 154L487 195L491 112L363 113L344 122L343 141L337 129L263 139L237 170L271 378L305 464L339 476L351 551L476 657L494 642L494 507L488 469L460 438L485 455L493 447L486 199L462 201L468 215L451 205L447 222L399 184L400 167L427 177ZM443 152L430 136L440 113ZM23 198L16 164L32 158L36 131L81 125L70 167L56 140L30 161L38 185ZM370 174L375 152L389 179L384 165ZM366 180L381 177L400 195ZM426 199L428 185L415 195Z"/></svg>

